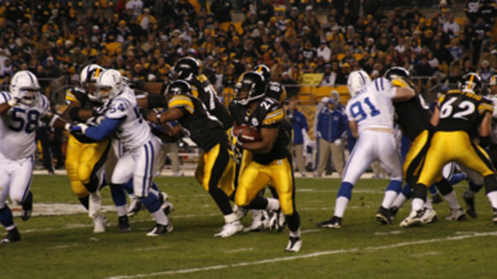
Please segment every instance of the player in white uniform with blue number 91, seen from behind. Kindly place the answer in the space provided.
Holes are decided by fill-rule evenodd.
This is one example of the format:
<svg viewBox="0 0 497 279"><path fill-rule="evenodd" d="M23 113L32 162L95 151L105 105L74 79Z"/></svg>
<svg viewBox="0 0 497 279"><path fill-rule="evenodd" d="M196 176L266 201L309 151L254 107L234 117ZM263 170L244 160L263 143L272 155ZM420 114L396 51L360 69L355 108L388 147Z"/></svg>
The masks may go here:
<svg viewBox="0 0 497 279"><path fill-rule="evenodd" d="M386 78L371 81L363 70L350 73L347 88L351 99L347 103L345 113L357 143L345 166L334 215L330 220L317 225L341 227L343 213L352 196L352 188L374 160L379 160L390 174L390 184L375 217L383 224L390 224L389 209L397 198L403 181L402 164L394 137L392 102L407 101L413 98L415 93L408 87L394 87Z"/></svg>

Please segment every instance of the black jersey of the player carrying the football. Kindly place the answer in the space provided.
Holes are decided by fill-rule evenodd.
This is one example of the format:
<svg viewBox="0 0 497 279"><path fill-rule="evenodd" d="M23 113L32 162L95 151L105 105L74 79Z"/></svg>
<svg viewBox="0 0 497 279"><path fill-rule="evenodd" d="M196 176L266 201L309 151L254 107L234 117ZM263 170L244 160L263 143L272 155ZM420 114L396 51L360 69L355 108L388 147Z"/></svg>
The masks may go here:
<svg viewBox="0 0 497 279"><path fill-rule="evenodd" d="M256 163L266 165L270 162L286 158L289 153L291 131L288 133L288 125L284 124L284 113L281 104L275 99L264 97L255 110L248 113L247 107L236 102L230 105L230 111L234 116L237 125L245 124L253 126L260 132L262 128L278 129L278 137L269 153L252 153L252 160ZM240 119L241 122L238 122ZM291 125L290 125L291 127ZM291 129L291 128L290 128Z"/></svg>

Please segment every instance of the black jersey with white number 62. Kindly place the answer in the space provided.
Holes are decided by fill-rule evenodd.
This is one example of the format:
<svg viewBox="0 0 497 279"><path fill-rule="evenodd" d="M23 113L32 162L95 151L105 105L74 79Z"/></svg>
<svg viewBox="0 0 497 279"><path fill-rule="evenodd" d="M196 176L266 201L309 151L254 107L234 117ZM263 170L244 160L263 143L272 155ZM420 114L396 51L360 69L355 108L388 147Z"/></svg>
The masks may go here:
<svg viewBox="0 0 497 279"><path fill-rule="evenodd" d="M470 139L478 135L478 126L487 112L494 113L491 100L461 90L450 90L438 101L440 122L437 131L465 131Z"/></svg>

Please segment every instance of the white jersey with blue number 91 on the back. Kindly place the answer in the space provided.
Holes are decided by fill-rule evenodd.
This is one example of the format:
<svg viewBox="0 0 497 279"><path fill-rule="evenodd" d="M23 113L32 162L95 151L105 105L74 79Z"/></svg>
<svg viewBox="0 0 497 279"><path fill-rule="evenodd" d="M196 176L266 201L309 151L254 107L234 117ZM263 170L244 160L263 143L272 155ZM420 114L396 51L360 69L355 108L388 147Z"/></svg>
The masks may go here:
<svg viewBox="0 0 497 279"><path fill-rule="evenodd" d="M394 130L395 87L390 80L380 77L366 83L357 94L348 100L345 114L349 121L358 125L359 135L368 128Z"/></svg>

